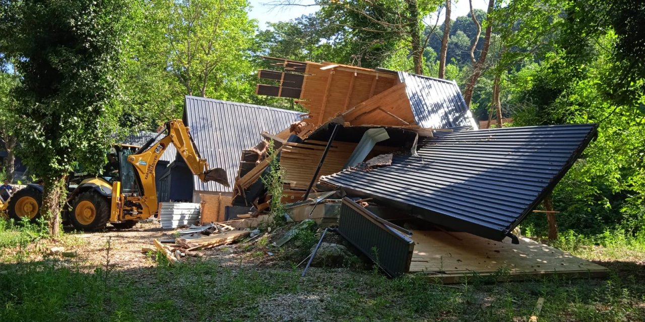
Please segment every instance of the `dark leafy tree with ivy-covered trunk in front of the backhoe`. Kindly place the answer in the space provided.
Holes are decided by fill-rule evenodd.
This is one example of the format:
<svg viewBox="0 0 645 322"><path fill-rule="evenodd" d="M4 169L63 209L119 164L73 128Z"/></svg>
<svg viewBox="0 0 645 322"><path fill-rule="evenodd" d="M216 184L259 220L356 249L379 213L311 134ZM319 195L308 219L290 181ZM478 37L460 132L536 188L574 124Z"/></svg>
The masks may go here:
<svg viewBox="0 0 645 322"><path fill-rule="evenodd" d="M45 184L41 214L59 233L64 179L82 164L105 162L115 128L126 3L119 0L35 0L1 3L0 52L22 75L19 155Z"/></svg>

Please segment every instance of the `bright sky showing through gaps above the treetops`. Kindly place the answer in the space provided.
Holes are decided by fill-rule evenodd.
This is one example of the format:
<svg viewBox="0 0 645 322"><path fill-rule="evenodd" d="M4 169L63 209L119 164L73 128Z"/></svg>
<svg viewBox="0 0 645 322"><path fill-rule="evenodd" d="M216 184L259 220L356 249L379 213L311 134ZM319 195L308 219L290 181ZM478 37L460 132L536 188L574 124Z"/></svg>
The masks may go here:
<svg viewBox="0 0 645 322"><path fill-rule="evenodd" d="M272 8L271 3L279 0L250 0L253 7L250 12L252 19L257 19L258 25L261 29L266 29L266 23L275 23L277 21L291 20L301 15L312 14L318 10L318 6L283 6L281 8ZM295 3L301 5L313 5L313 0L294 0ZM487 0L473 0L473 7L476 9L486 10L488 6ZM467 15L470 12L470 6L467 0L453 1L451 17L454 20L460 15ZM439 17L439 24L443 22L444 15ZM437 21L437 16L429 17L426 23L434 24Z"/></svg>

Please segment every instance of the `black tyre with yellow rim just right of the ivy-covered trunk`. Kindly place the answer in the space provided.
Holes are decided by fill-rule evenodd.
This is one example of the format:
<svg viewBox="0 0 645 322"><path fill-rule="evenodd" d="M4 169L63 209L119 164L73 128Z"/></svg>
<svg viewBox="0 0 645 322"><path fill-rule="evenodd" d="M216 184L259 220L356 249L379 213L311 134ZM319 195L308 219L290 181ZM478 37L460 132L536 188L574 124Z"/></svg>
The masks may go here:
<svg viewBox="0 0 645 322"><path fill-rule="evenodd" d="M99 231L110 220L110 202L96 191L85 191L76 197L69 218L79 231Z"/></svg>

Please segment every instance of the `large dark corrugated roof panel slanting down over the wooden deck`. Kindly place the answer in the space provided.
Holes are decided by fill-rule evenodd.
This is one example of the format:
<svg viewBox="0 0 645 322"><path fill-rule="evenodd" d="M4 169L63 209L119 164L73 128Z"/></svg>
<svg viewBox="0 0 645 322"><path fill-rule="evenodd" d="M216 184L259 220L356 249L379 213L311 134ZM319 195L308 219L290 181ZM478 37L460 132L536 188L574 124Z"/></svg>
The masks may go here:
<svg viewBox="0 0 645 322"><path fill-rule="evenodd" d="M321 178L391 200L415 216L502 240L541 202L596 135L595 124L437 133L392 166Z"/></svg>

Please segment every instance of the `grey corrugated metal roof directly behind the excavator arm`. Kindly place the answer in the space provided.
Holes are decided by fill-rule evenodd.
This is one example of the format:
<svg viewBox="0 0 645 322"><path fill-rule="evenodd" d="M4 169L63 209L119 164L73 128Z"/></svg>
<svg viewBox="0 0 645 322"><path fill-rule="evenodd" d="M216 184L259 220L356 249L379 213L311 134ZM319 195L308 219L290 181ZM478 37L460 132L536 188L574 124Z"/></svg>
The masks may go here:
<svg viewBox="0 0 645 322"><path fill-rule="evenodd" d="M287 109L186 96L184 123L190 127L190 134L201 156L206 158L210 167L225 169L228 182L233 184L242 150L261 142L261 131L279 133L301 120L303 114ZM201 182L197 176L194 183L197 191L232 191L232 187L215 182Z"/></svg>

